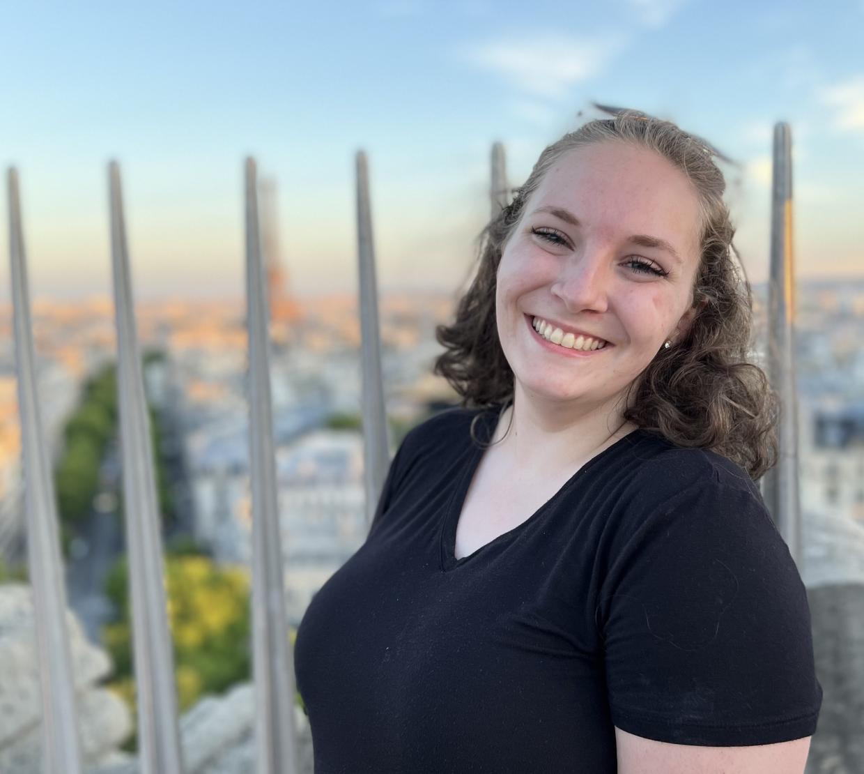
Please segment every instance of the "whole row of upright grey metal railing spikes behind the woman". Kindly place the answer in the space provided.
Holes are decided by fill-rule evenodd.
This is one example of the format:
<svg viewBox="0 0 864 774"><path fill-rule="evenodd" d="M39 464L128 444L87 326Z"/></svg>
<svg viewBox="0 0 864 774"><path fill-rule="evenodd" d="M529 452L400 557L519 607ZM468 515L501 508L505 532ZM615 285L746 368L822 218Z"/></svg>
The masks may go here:
<svg viewBox="0 0 864 774"><path fill-rule="evenodd" d="M791 361L793 285L791 260L791 155L786 125L775 131L772 293L776 324L769 337L774 353L772 379L784 400L794 401ZM492 148L492 214L508 201L503 145ZM357 240L362 333L362 416L365 443L367 522L390 461L389 428L384 413L378 294L372 244L368 165L356 156ZM168 636L162 545L156 509L149 420L143 390L130 266L124 228L120 172L109 165L111 254L118 334L120 433L124 463L124 514L130 556L140 771L182 771L174 668ZM9 172L10 260L14 298L19 406L26 473L26 520L30 577L35 595L36 631L41 664L44 771L81 771L73 681L66 630L66 592L61 579L54 485L36 402L34 346L16 170ZM295 686L286 623L282 541L277 513L276 472L269 381L268 303L264 288L257 202L257 168L245 161L246 299L249 334L249 412L252 492L252 638L256 692L256 751L260 774L298 771L293 704ZM774 307L772 307L774 309ZM794 411L781 426L781 464L766 489L772 514L797 553L797 434ZM782 516L782 518L781 518ZM793 555L796 555L793 553Z"/></svg>

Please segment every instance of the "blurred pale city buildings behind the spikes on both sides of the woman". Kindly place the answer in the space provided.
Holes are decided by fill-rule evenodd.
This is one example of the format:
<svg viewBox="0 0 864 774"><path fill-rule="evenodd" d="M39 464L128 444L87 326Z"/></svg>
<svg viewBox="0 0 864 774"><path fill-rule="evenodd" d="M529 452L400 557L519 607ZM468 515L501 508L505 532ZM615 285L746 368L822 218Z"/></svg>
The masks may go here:
<svg viewBox="0 0 864 774"><path fill-rule="evenodd" d="M766 286L754 291L757 333ZM272 304L278 310L278 304ZM456 394L431 374L434 329L451 293L384 294L380 303L387 412L410 426ZM271 385L285 521L291 618L359 545L363 533L359 425L359 313L352 296L298 299L274 312ZM175 532L221 561L249 561L245 308L238 300L139 304L149 403L170 432ZM108 299L36 303L41 419L56 460L82 390L115 358ZM864 279L804 280L797 291L796 367L804 510L832 511L864 527ZM344 427L339 418L343 418ZM353 421L347 419L353 418ZM400 425L399 423L402 423ZM335 426L331 426L335 425ZM391 452L395 451L391 448ZM116 450L102 461L94 513L116 506ZM11 309L0 308L0 559L22 559L22 473ZM73 543L73 555L89 546ZM314 567L314 572L310 569Z"/></svg>

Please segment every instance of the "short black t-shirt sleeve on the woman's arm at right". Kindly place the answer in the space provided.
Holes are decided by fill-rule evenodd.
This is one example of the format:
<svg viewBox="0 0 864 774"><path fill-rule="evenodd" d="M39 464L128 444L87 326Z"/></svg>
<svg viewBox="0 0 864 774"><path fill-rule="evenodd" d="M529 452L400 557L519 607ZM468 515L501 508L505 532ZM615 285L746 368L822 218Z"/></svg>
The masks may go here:
<svg viewBox="0 0 864 774"><path fill-rule="evenodd" d="M610 562L596 617L620 729L708 746L816 730L806 591L754 488L702 481L646 509Z"/></svg>

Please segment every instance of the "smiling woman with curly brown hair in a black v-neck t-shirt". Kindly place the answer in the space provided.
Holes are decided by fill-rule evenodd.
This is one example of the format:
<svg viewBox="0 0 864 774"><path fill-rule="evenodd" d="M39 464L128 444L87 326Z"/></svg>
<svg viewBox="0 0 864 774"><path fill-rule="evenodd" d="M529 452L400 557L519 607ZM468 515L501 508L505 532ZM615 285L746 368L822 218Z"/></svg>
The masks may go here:
<svg viewBox="0 0 864 774"><path fill-rule="evenodd" d="M804 771L822 688L724 186L623 112L486 227L438 330L464 407L404 438L298 631L316 774Z"/></svg>

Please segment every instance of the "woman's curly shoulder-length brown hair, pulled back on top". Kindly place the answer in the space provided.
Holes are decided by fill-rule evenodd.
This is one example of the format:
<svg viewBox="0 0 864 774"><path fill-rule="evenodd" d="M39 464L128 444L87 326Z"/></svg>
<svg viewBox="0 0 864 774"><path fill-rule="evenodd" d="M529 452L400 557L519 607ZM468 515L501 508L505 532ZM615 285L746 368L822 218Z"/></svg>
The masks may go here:
<svg viewBox="0 0 864 774"><path fill-rule="evenodd" d="M628 392L623 419L675 445L716 451L759 479L777 462L778 399L764 371L750 361L753 294L743 266L733 260L726 181L712 158L716 151L704 141L643 112L590 121L543 150L528 180L513 189L511 203L480 232L476 274L459 299L454 322L435 328L445 351L433 371L461 396L462 407L512 400L513 372L495 319L501 254L550 167L569 150L611 141L654 150L674 163L695 186L702 215L696 314L686 336L661 349L632 382L636 393Z"/></svg>

